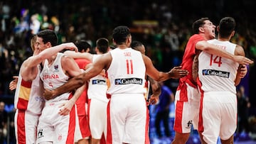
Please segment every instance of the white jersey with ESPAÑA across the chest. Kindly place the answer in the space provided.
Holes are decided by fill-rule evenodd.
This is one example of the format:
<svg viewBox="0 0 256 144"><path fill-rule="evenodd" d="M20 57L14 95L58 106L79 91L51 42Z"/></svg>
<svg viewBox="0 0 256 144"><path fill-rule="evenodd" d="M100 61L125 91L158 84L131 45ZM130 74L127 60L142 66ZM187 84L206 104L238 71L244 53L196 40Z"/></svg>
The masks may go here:
<svg viewBox="0 0 256 144"><path fill-rule="evenodd" d="M56 89L68 82L69 77L63 72L61 66L61 57L63 57L63 53L58 52L51 65L48 65L48 60L45 60L43 70L40 74L43 81L43 87L45 89ZM69 94L65 93L62 94L62 96L56 96L54 99L50 99L49 101L68 100L68 96Z"/></svg>

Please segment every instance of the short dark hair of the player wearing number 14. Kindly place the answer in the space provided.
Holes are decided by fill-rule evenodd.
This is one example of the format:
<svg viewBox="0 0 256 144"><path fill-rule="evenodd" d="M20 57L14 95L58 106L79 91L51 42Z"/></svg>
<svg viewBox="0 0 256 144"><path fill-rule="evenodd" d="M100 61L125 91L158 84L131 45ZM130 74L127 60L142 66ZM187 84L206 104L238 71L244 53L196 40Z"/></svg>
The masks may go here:
<svg viewBox="0 0 256 144"><path fill-rule="evenodd" d="M235 19L232 17L225 17L219 23L219 35L221 38L228 38L232 31L235 30Z"/></svg>

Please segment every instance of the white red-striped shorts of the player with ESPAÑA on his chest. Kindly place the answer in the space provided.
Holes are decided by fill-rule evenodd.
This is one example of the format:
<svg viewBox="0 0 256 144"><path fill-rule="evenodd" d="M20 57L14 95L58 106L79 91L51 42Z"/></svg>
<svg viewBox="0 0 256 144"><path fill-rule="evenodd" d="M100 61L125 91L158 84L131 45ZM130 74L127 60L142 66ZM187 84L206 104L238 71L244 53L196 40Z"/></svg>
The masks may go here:
<svg viewBox="0 0 256 144"><path fill-rule="evenodd" d="M74 143L75 106L67 116L58 113L61 109L59 106L65 102L46 102L39 118L36 143Z"/></svg>

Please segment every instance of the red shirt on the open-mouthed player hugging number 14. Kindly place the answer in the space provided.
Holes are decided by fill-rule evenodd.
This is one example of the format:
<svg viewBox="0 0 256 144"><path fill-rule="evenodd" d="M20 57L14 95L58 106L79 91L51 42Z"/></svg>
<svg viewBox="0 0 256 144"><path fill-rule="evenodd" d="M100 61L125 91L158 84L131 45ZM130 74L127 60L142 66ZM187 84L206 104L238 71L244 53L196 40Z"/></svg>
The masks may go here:
<svg viewBox="0 0 256 144"><path fill-rule="evenodd" d="M197 89L196 82L193 82L192 64L193 58L196 55L196 43L198 43L201 40L204 40L204 38L201 35L195 34L192 35L191 38L189 38L188 43L186 45L181 66L182 69L188 70L189 73L186 77L182 77L181 79L179 79L177 88L177 90L181 90L179 101L188 101L188 95L186 93L186 83L189 84L191 87Z"/></svg>

